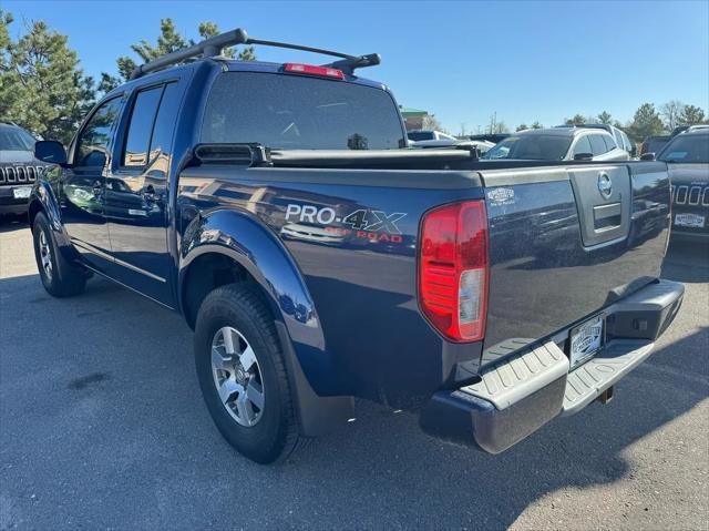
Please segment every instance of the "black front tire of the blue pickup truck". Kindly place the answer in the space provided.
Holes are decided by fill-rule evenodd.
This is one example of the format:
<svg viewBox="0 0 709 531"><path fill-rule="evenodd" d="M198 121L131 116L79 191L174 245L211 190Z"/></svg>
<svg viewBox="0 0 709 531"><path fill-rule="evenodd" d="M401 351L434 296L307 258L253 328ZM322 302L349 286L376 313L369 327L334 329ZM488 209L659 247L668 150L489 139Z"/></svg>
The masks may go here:
<svg viewBox="0 0 709 531"><path fill-rule="evenodd" d="M34 259L40 273L40 279L47 293L52 297L73 297L86 287L86 275L78 266L70 264L59 252L56 238L50 228L44 213L40 212L32 225L32 238L34 241ZM43 264L42 247L49 251L51 269L48 272Z"/></svg>

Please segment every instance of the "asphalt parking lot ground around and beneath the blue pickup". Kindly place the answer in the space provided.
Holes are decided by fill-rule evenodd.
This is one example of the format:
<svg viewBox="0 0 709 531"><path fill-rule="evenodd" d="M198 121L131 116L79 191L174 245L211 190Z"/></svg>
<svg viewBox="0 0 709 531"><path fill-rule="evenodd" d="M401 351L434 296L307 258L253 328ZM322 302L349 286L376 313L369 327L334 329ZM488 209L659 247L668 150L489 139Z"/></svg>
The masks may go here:
<svg viewBox="0 0 709 531"><path fill-rule="evenodd" d="M27 225L0 223L0 529L708 529L697 245L670 247L682 310L607 406L487 456L359 404L356 422L261 467L214 428L177 315L101 279L52 299Z"/></svg>

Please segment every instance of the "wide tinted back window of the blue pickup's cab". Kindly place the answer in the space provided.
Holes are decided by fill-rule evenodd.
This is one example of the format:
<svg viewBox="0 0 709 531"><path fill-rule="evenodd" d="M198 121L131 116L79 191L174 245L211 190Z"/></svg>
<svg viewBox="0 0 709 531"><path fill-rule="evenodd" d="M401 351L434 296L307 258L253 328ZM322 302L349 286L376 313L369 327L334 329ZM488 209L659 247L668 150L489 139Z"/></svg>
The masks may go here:
<svg viewBox="0 0 709 531"><path fill-rule="evenodd" d="M227 72L205 109L201 142L284 150L405 147L399 110L381 89L304 75Z"/></svg>

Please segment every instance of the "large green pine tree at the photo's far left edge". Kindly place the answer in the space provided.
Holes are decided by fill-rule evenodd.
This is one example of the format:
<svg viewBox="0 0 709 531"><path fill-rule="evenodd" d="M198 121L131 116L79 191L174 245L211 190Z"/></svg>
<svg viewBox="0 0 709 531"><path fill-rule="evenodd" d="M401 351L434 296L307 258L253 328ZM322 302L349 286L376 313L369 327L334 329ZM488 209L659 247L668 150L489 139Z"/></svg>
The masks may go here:
<svg viewBox="0 0 709 531"><path fill-rule="evenodd" d="M79 68L66 35L40 21L13 40L11 23L0 11L0 116L66 144L93 104L93 80Z"/></svg>

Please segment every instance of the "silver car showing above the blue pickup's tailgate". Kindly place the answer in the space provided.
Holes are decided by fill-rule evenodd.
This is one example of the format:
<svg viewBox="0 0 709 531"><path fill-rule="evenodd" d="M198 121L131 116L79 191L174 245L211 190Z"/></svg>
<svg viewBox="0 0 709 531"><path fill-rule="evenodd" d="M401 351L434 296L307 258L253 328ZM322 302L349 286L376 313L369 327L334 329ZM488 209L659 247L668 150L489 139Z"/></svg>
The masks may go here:
<svg viewBox="0 0 709 531"><path fill-rule="evenodd" d="M520 131L490 150L486 160L628 161L629 153L597 127L553 127Z"/></svg>

